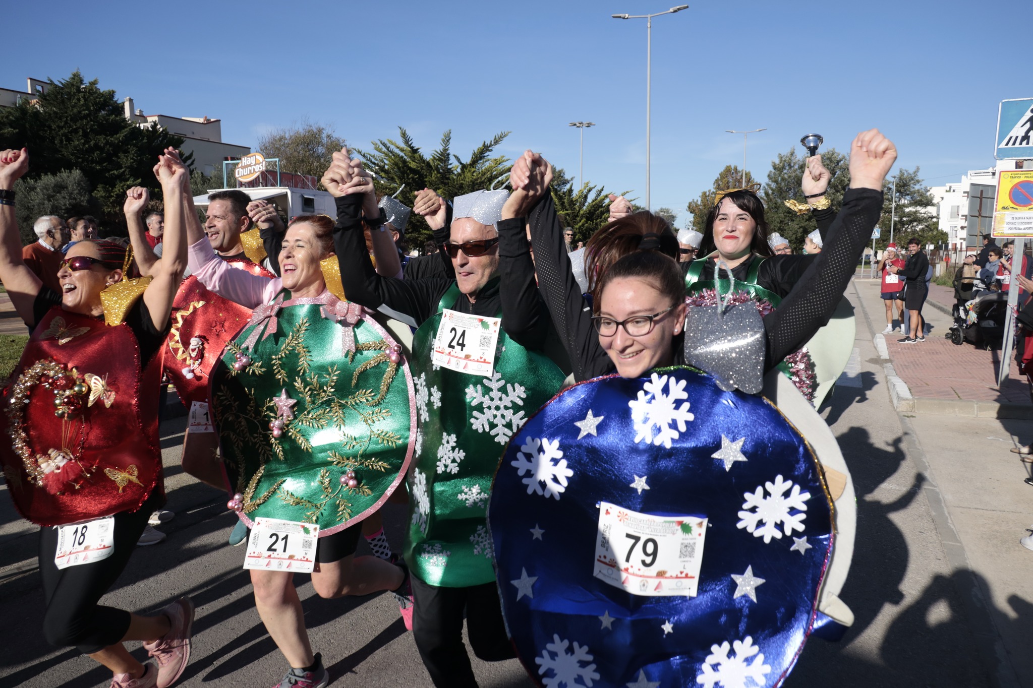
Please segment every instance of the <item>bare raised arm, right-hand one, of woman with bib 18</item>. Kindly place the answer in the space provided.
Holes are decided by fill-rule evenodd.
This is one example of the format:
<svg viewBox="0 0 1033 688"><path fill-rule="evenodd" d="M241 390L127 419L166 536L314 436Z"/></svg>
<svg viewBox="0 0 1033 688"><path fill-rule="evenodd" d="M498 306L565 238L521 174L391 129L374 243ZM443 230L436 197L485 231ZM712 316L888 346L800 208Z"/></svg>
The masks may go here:
<svg viewBox="0 0 1033 688"><path fill-rule="evenodd" d="M161 260L152 265L152 280L144 292L144 304L151 314L151 322L162 329L168 323L173 299L187 266L187 219L190 216L196 219L197 214L190 195L190 170L180 160L176 149L165 149L154 166L154 173L161 182L165 206L165 235L162 239L165 248Z"/></svg>

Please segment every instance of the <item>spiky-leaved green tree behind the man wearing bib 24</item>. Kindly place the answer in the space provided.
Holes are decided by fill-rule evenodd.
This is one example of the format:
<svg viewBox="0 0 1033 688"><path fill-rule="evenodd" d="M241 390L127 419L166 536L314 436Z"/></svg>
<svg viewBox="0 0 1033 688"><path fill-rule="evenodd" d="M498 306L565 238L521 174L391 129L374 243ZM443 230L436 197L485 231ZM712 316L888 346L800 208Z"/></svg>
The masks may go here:
<svg viewBox="0 0 1033 688"><path fill-rule="evenodd" d="M509 159L493 157L492 152L508 135L508 131L496 134L463 160L451 152L451 130L442 134L438 149L428 157L409 133L399 127L400 141L378 139L372 142L373 151L355 149L354 153L363 158L367 169L375 173L378 195L394 196L404 186L397 198L412 207L416 194L424 189L433 189L442 198L451 200L480 189L506 186L511 167ZM409 245L422 245L432 237L432 232L427 222L413 214L406 235Z"/></svg>

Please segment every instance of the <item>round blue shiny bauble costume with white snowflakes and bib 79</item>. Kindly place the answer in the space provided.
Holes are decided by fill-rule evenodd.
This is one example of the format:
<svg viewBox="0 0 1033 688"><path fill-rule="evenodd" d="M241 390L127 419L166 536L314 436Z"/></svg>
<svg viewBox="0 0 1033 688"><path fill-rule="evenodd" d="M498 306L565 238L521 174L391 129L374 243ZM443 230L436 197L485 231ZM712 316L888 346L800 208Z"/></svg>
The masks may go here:
<svg viewBox="0 0 1033 688"><path fill-rule="evenodd" d="M550 688L780 685L834 538L800 432L685 367L545 404L509 444L489 525L508 630Z"/></svg>

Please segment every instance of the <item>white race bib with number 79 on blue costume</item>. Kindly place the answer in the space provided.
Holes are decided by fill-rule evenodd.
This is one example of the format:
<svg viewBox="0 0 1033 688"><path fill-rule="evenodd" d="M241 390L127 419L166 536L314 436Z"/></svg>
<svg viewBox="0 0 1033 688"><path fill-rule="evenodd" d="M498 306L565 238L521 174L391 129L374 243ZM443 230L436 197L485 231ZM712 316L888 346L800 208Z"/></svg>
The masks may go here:
<svg viewBox="0 0 1033 688"><path fill-rule="evenodd" d="M707 519L652 516L599 502L595 578L632 595L694 597Z"/></svg>

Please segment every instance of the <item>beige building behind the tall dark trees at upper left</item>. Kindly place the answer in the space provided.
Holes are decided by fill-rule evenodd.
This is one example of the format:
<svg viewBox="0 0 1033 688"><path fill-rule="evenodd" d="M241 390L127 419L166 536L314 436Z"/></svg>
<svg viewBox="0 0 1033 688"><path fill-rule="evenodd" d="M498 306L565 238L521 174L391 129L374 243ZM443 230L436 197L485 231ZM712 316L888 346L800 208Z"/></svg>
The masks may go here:
<svg viewBox="0 0 1033 688"><path fill-rule="evenodd" d="M23 98L34 100L45 93L50 81L38 78L27 79L25 91L0 88L0 107L13 107ZM251 153L250 146L226 143L222 140L222 124L219 120L201 118L179 118L168 114L145 114L137 109L132 98L124 100L125 117L142 127L157 123L159 127L183 137L183 152L193 154L194 169L211 174L222 171L223 160L237 160Z"/></svg>

